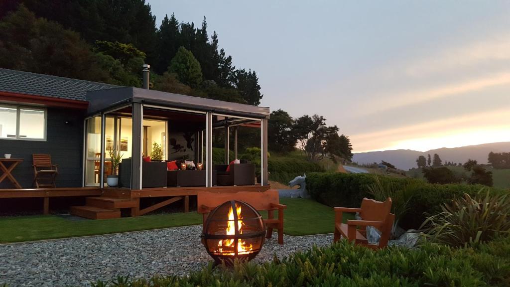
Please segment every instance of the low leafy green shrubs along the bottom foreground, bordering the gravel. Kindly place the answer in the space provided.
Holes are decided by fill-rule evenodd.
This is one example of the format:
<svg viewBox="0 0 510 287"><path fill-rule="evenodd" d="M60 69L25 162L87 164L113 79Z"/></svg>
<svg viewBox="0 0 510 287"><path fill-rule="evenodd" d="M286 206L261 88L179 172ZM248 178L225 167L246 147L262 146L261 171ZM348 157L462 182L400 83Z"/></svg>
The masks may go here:
<svg viewBox="0 0 510 287"><path fill-rule="evenodd" d="M508 286L510 240L455 249L426 244L419 249L392 247L374 251L345 240L334 245L298 252L283 260L211 266L188 277L151 280L118 278L97 287L170 286Z"/></svg>

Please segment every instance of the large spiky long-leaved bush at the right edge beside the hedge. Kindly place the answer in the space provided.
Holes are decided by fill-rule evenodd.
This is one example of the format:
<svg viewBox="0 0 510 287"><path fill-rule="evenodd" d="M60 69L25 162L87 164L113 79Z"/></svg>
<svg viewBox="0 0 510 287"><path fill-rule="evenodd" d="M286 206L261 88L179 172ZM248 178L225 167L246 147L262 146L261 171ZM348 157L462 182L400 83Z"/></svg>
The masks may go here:
<svg viewBox="0 0 510 287"><path fill-rule="evenodd" d="M500 233L510 233L510 198L507 195L465 194L451 204L443 204L443 212L429 217L422 225L433 242L465 246L491 240Z"/></svg>

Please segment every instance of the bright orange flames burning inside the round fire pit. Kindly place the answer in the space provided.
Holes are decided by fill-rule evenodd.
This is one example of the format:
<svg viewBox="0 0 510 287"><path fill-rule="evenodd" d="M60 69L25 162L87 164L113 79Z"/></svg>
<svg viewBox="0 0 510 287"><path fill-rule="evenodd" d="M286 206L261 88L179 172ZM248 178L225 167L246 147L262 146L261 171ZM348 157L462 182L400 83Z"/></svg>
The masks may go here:
<svg viewBox="0 0 510 287"><path fill-rule="evenodd" d="M244 223L242 221L243 218L241 217L241 206L238 205L237 203L236 203L236 212L237 212L237 219L238 219L238 221L237 221L238 231L239 231L239 234L242 234ZM234 210L232 210L232 206L228 210L228 222L227 222L226 234L227 235L235 235L236 234L236 224L234 221ZM221 255L236 255L235 248L237 248L237 254L248 254L248 253L251 253L253 250L252 244L248 244L245 241L242 241L240 239L237 241L237 247L236 247L235 239L220 240L218 242L218 247L219 248L218 248L218 250L215 250L215 253L221 254ZM231 250L232 250L232 252L228 252ZM224 253L225 251L228 253Z"/></svg>

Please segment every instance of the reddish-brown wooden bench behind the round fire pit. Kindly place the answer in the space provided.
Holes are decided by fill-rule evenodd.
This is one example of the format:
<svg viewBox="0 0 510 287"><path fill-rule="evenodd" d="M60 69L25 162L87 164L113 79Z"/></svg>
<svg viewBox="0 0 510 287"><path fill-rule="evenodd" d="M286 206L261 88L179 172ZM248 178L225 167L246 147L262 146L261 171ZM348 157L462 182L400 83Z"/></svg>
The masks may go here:
<svg viewBox="0 0 510 287"><path fill-rule="evenodd" d="M237 193L198 192L197 212L202 213L203 223L206 223L209 213L214 208L230 200L244 201L258 211L267 210L268 218L264 219L267 227L266 238L271 238L274 228L278 230L278 243L284 244L284 210L287 206L279 203L278 190ZM278 211L278 218L274 218L275 210Z"/></svg>

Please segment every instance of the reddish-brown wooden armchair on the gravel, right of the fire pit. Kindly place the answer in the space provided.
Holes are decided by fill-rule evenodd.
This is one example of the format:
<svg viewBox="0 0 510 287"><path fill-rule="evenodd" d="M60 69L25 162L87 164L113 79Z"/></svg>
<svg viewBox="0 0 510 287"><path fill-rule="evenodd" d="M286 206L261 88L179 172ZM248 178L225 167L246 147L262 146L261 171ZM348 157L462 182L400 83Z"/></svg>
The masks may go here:
<svg viewBox="0 0 510 287"><path fill-rule="evenodd" d="M361 208L335 207L335 237L333 241L336 242L340 236L343 236L350 242L373 249L386 247L395 220L395 214L391 213L391 204L391 198L384 202L364 198ZM362 220L347 220L347 224L342 223L343 212L359 212ZM358 226L361 226L361 229L357 229ZM378 245L368 243L367 226L373 226L381 232Z"/></svg>

